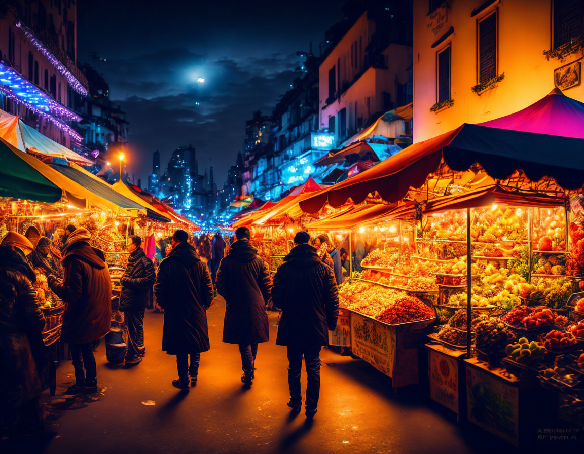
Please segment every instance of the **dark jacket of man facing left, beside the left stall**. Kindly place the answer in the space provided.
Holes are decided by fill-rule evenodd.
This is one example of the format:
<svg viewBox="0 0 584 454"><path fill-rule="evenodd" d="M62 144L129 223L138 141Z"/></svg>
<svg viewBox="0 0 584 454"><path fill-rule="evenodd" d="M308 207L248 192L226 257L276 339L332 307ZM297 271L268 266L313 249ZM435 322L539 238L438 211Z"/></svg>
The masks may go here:
<svg viewBox="0 0 584 454"><path fill-rule="evenodd" d="M141 310L148 306L148 292L156 275L152 260L138 247L128 257L126 271L120 279L120 310Z"/></svg>

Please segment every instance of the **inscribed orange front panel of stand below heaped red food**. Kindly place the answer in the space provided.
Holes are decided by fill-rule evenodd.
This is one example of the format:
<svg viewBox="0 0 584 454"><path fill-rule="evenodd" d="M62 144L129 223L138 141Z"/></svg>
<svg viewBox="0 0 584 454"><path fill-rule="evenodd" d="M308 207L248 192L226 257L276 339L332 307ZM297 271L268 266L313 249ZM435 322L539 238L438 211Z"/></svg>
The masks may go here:
<svg viewBox="0 0 584 454"><path fill-rule="evenodd" d="M353 353L391 377L395 362L395 329L352 313L351 333Z"/></svg>

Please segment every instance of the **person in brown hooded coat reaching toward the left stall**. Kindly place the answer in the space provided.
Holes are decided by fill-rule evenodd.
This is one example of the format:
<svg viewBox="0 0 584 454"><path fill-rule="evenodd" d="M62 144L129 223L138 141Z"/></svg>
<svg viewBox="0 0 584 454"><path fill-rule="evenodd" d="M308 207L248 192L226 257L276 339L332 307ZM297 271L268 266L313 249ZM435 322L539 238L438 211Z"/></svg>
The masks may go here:
<svg viewBox="0 0 584 454"><path fill-rule="evenodd" d="M69 344L75 369L75 385L68 394L98 392L93 342L109 333L112 317L109 268L103 252L89 245L90 238L85 228L71 233L63 249L62 281L47 276L51 290L67 305L61 340Z"/></svg>

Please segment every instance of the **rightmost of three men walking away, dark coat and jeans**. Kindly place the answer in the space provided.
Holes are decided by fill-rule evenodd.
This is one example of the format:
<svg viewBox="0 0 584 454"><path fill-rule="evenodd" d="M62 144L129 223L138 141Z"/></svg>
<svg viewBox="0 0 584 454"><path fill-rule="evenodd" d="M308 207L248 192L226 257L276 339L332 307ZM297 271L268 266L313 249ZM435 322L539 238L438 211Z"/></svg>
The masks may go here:
<svg viewBox="0 0 584 454"><path fill-rule="evenodd" d="M278 326L277 345L286 345L288 361L288 406L300 411L300 371L302 358L306 365L306 415L317 413L320 390L322 345L328 345L328 331L336 327L339 313L339 292L335 277L322 263L317 250L307 244L310 236L298 232L294 236L296 246L284 257L284 263L274 276L272 299L282 309Z"/></svg>

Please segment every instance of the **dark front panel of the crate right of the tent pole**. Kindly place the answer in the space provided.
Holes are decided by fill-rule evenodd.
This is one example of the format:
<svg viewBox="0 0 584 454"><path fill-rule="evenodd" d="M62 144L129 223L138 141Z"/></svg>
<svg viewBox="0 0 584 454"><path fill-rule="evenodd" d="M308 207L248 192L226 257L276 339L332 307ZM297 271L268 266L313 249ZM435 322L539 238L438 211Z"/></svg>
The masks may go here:
<svg viewBox="0 0 584 454"><path fill-rule="evenodd" d="M467 364L468 420L517 446L519 389Z"/></svg>

